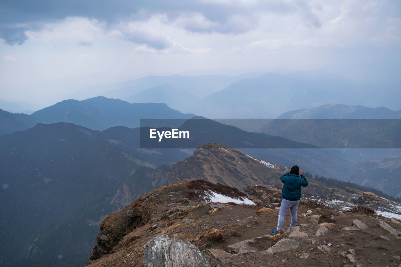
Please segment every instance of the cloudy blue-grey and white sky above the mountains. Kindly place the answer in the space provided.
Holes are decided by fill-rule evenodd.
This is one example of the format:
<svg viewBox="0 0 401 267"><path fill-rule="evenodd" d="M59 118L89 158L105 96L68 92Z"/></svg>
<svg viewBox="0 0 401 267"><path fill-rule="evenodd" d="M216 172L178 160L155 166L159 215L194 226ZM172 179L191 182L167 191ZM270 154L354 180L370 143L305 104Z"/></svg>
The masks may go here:
<svg viewBox="0 0 401 267"><path fill-rule="evenodd" d="M398 0L2 0L0 98L60 101L152 74L391 79L400 44Z"/></svg>

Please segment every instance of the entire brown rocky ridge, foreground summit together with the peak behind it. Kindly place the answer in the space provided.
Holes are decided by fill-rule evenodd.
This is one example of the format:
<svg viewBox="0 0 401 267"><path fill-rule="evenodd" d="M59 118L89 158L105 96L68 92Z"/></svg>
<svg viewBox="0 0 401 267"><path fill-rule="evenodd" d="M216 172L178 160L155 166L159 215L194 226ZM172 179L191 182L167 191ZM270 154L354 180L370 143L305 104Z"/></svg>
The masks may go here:
<svg viewBox="0 0 401 267"><path fill-rule="evenodd" d="M271 236L282 200L278 177L285 170L206 144L173 165L171 185L103 220L88 265L148 266L157 260L160 266L193 266L182 262L198 257L203 266L223 267L401 264L400 203L313 179L303 189L296 227Z"/></svg>

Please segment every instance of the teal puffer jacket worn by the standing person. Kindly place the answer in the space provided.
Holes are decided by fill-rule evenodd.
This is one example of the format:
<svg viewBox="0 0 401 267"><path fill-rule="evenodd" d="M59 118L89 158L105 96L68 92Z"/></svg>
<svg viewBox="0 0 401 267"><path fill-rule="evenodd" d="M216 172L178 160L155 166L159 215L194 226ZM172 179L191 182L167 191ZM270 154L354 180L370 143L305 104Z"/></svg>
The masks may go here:
<svg viewBox="0 0 401 267"><path fill-rule="evenodd" d="M304 175L300 177L297 174L290 174L290 172L281 176L280 180L284 183L281 196L290 201L300 200L302 186L308 185L308 181Z"/></svg>

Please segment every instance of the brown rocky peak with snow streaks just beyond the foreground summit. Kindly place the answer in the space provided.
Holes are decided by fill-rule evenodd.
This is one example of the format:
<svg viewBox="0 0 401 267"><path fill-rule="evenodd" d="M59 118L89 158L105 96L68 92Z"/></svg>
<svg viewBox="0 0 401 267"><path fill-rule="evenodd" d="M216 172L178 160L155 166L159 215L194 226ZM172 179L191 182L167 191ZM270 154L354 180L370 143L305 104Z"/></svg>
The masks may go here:
<svg viewBox="0 0 401 267"><path fill-rule="evenodd" d="M271 184L285 170L281 165L251 157L227 146L205 144L189 158L173 164L167 183L201 179L242 190L250 184Z"/></svg>

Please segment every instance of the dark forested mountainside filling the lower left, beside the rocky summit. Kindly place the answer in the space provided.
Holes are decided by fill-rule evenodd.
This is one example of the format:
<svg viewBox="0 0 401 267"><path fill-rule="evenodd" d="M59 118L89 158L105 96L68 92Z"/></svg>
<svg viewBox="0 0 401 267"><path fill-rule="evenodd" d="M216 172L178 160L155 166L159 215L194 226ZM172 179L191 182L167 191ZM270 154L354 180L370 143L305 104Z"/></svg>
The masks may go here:
<svg viewBox="0 0 401 267"><path fill-rule="evenodd" d="M85 262L104 216L161 186L170 167L160 162L171 166L188 156L177 150L138 151L133 131L39 123L0 136L2 264Z"/></svg>

